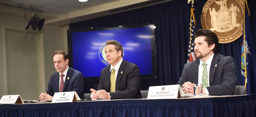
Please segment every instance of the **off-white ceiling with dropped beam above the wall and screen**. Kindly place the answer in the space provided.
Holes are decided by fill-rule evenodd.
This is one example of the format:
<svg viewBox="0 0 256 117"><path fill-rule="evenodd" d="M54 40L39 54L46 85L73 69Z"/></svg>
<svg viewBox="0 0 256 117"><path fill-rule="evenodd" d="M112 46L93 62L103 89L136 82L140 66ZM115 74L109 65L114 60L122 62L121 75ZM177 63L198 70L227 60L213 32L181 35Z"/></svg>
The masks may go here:
<svg viewBox="0 0 256 117"><path fill-rule="evenodd" d="M46 18L45 24L62 26L167 1L171 0L0 0L0 14L24 18L27 8L26 18L29 19L33 15L29 9L34 9L34 14Z"/></svg>

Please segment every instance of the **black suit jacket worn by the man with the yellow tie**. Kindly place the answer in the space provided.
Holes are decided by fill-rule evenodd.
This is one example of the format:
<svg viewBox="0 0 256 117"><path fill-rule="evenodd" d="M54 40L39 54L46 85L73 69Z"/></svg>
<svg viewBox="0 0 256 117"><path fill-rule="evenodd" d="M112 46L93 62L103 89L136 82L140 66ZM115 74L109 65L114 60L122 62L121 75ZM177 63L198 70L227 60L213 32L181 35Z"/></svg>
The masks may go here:
<svg viewBox="0 0 256 117"><path fill-rule="evenodd" d="M102 69L98 90L110 92L110 65ZM115 82L115 92L110 92L111 99L142 98L140 86L140 69L137 65L123 60Z"/></svg>

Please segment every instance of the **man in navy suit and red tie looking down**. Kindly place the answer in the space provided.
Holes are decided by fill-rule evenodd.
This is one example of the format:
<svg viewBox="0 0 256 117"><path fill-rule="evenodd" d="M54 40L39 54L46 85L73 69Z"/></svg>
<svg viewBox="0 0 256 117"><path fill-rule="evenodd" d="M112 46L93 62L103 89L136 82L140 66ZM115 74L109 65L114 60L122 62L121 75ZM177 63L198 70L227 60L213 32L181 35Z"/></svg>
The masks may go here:
<svg viewBox="0 0 256 117"><path fill-rule="evenodd" d="M48 90L41 93L39 99L42 101L52 100L55 92L76 91L81 99L84 99L83 74L68 67L68 54L64 51L53 53L54 67L57 72L51 75Z"/></svg>

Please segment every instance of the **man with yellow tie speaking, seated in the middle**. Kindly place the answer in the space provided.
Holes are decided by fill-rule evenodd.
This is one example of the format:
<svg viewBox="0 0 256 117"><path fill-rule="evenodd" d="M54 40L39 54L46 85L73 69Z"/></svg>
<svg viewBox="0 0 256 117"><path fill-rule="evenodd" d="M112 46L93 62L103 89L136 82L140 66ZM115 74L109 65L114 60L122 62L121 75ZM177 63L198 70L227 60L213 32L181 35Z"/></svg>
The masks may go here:
<svg viewBox="0 0 256 117"><path fill-rule="evenodd" d="M98 91L90 89L91 99L142 98L139 67L123 60L122 45L115 40L108 41L105 54L110 65L101 71Z"/></svg>

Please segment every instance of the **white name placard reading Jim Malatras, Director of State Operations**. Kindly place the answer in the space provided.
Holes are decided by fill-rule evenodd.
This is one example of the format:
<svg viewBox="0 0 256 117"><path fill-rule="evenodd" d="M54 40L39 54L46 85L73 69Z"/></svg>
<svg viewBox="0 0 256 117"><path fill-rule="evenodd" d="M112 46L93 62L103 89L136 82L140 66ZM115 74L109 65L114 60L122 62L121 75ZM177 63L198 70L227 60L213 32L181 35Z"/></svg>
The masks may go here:
<svg viewBox="0 0 256 117"><path fill-rule="evenodd" d="M150 86L147 99L176 99L185 95L180 85Z"/></svg>

